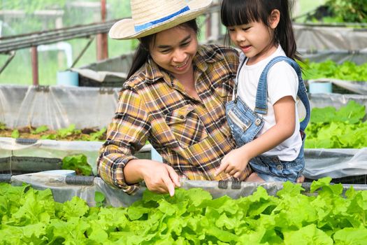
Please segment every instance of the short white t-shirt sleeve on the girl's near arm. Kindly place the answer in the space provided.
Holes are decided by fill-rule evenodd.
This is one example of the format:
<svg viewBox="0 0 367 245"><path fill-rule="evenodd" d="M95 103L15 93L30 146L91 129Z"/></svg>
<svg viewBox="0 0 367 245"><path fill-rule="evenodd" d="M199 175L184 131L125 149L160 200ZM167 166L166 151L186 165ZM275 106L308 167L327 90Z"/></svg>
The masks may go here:
<svg viewBox="0 0 367 245"><path fill-rule="evenodd" d="M287 62L274 64L268 72L268 97L272 105L279 99L292 96L296 102L298 76Z"/></svg>

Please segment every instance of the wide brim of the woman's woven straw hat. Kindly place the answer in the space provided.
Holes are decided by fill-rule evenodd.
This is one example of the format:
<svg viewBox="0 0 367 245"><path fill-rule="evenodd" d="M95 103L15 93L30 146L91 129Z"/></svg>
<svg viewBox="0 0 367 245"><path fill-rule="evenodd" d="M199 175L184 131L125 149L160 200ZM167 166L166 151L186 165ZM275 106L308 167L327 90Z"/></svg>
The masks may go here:
<svg viewBox="0 0 367 245"><path fill-rule="evenodd" d="M164 31L171 27L175 27L176 25L180 25L184 22L189 20L193 20L194 18L198 17L199 15L203 14L208 6L210 6L212 0L192 0L187 3L190 10L181 13L165 22L161 22L157 25L152 25L147 29L142 31L135 31L134 29L134 20L133 19L123 19L115 22L113 26L110 28L108 32L108 36L113 39L133 39L133 38L141 38L143 36L149 36L151 34L157 33L159 31Z"/></svg>

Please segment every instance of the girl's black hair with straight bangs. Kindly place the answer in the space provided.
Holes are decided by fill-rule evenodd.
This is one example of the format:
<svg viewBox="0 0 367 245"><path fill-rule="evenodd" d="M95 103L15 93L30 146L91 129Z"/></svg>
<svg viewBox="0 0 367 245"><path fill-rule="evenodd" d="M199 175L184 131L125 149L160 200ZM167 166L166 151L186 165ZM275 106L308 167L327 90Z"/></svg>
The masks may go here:
<svg viewBox="0 0 367 245"><path fill-rule="evenodd" d="M263 22L270 27L268 20L271 12L278 9L280 22L275 28L273 41L282 46L287 57L301 60L292 28L292 6L292 0L223 0L220 15L225 27L247 25L250 22Z"/></svg>

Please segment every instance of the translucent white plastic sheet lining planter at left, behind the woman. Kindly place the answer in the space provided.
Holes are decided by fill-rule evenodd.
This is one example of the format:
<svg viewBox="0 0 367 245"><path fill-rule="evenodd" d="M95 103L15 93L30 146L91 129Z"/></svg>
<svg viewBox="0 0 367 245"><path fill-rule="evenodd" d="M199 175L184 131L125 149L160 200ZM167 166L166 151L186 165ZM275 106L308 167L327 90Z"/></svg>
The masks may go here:
<svg viewBox="0 0 367 245"><path fill-rule="evenodd" d="M106 127L117 106L119 88L0 86L0 122L7 127Z"/></svg>

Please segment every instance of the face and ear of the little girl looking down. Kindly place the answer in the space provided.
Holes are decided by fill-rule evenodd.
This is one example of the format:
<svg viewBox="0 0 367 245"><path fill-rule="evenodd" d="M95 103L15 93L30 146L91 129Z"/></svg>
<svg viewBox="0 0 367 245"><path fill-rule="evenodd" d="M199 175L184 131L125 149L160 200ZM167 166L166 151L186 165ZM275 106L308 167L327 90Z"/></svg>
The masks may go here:
<svg viewBox="0 0 367 245"><path fill-rule="evenodd" d="M277 49L278 45L274 43L273 35L274 29L278 26L279 15L278 10L273 10L269 18L270 27L263 22L227 27L231 41L249 58L247 64L256 64Z"/></svg>

